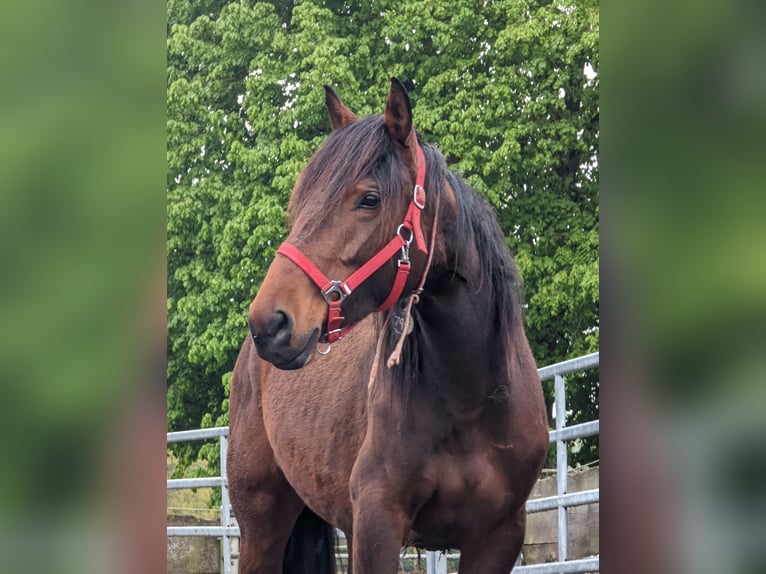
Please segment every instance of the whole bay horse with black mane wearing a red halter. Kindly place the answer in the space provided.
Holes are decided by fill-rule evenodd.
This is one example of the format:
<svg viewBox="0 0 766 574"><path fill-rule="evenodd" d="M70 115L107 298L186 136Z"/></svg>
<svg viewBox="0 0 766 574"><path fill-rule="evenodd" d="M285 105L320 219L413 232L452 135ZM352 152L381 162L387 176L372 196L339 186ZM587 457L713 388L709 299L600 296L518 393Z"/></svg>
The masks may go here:
<svg viewBox="0 0 766 574"><path fill-rule="evenodd" d="M395 574L403 546L508 574L548 447L519 272L398 80L382 115L325 95L332 133L295 184L232 378L239 572L334 571L334 526L354 574Z"/></svg>

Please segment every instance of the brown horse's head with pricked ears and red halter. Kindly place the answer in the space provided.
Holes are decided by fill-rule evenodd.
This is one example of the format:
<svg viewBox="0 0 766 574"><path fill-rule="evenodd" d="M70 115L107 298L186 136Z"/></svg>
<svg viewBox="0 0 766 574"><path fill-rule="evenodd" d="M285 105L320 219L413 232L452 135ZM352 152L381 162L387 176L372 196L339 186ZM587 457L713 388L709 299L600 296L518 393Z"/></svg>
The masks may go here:
<svg viewBox="0 0 766 574"><path fill-rule="evenodd" d="M383 114L361 119L325 95L333 131L298 178L288 237L248 313L258 354L280 369L390 308L426 265L433 209L404 86L392 79Z"/></svg>

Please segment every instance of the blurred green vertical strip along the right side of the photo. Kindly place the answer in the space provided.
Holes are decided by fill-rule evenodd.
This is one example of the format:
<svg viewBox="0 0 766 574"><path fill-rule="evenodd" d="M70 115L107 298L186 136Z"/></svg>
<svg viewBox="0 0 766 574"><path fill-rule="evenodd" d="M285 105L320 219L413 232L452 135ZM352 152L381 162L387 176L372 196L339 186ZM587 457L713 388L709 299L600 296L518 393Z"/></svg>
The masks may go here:
<svg viewBox="0 0 766 574"><path fill-rule="evenodd" d="M611 4L601 412L618 495L602 508L620 528L605 571L651 554L654 530L662 571L764 572L766 6ZM622 468L642 479L610 483Z"/></svg>

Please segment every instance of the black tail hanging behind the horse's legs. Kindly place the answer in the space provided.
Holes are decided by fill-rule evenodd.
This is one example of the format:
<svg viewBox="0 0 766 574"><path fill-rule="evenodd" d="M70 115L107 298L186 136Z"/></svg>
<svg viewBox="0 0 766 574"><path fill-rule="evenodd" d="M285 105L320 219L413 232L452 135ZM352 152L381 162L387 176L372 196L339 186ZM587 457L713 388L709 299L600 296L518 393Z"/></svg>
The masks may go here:
<svg viewBox="0 0 766 574"><path fill-rule="evenodd" d="M335 528L303 509L285 548L283 574L335 574Z"/></svg>

